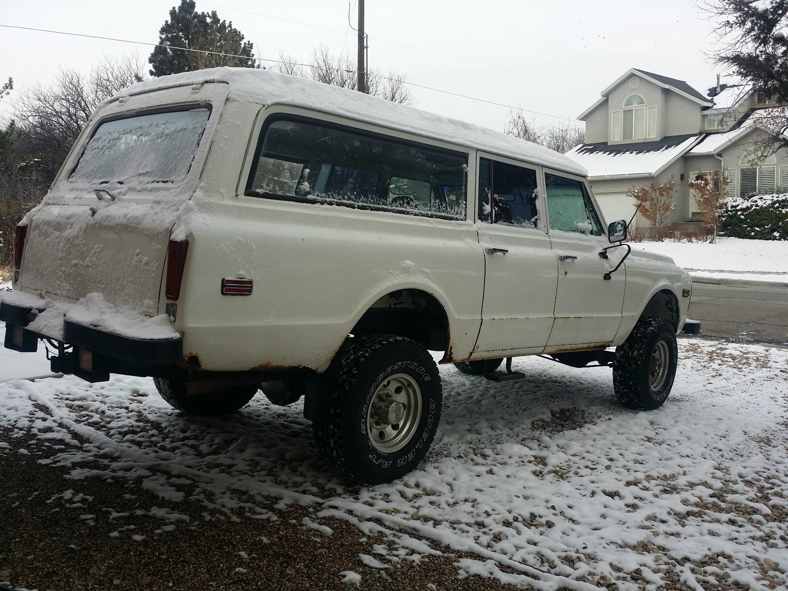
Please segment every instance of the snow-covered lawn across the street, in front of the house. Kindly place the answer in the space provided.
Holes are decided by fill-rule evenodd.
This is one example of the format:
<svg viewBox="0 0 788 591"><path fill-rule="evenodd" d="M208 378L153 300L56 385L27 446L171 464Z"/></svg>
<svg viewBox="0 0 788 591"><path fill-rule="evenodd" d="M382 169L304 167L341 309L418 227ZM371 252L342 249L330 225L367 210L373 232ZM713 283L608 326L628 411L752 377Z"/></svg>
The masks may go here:
<svg viewBox="0 0 788 591"><path fill-rule="evenodd" d="M633 250L659 252L693 277L788 283L788 241L717 238L707 242L630 243Z"/></svg>

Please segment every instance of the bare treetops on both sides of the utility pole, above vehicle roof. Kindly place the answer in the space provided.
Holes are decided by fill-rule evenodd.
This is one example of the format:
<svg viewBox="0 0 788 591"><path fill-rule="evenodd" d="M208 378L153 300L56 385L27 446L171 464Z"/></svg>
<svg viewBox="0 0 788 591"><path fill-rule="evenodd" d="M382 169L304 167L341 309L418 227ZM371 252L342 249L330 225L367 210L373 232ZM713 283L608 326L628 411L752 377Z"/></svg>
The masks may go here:
<svg viewBox="0 0 788 591"><path fill-rule="evenodd" d="M277 71L292 76L310 78L324 84L331 84L340 88L354 90L358 87L359 80L356 72L355 61L345 54L337 56L331 53L328 47L318 46L312 51L312 56L306 64L299 64L295 58L288 54L279 54L281 63L276 66ZM367 73L367 90L370 95L403 105L411 105L415 99L407 88L405 76L396 72L384 75L376 70Z"/></svg>

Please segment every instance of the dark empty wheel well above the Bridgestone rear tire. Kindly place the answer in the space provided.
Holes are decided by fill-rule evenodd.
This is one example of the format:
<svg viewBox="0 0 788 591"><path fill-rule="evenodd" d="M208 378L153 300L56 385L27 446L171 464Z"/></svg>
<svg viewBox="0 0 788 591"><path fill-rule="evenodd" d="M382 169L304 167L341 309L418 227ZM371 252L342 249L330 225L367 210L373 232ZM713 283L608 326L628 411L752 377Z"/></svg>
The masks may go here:
<svg viewBox="0 0 788 591"><path fill-rule="evenodd" d="M351 333L405 336L430 351L446 351L448 317L432 294L420 289L399 289L373 303Z"/></svg>

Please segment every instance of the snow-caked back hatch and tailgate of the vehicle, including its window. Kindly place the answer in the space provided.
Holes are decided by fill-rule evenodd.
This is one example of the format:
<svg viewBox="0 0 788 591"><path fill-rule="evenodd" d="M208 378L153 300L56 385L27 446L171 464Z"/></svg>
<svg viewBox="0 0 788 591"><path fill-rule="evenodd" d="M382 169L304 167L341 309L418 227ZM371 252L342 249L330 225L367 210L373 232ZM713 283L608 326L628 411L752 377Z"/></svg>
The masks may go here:
<svg viewBox="0 0 788 591"><path fill-rule="evenodd" d="M102 106L32 215L17 284L157 314L170 229L199 182L227 90L195 84Z"/></svg>

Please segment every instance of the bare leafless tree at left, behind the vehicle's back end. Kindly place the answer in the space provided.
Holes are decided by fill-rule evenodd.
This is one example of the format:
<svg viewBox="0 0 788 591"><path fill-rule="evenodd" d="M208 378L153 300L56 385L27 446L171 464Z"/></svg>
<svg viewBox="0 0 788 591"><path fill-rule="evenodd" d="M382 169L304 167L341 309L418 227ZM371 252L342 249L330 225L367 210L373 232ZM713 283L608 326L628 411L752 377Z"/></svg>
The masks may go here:
<svg viewBox="0 0 788 591"><path fill-rule="evenodd" d="M54 84L24 91L14 110L17 150L39 158L51 181L93 110L121 88L143 80L143 71L140 58L104 58L87 76L60 69Z"/></svg>

